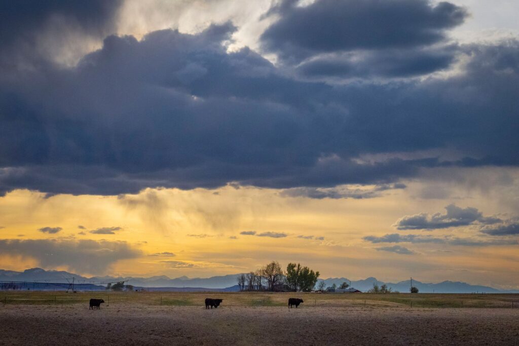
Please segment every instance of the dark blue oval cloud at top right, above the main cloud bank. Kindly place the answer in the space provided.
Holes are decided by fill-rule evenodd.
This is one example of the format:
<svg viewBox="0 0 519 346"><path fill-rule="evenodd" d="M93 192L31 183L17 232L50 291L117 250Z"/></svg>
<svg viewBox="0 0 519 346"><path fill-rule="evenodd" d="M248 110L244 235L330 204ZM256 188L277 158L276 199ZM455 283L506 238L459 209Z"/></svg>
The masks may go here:
<svg viewBox="0 0 519 346"><path fill-rule="evenodd" d="M355 49L420 47L438 43L465 20L456 5L428 0L317 0L309 6L283 1L270 10L280 19L261 39L284 59Z"/></svg>

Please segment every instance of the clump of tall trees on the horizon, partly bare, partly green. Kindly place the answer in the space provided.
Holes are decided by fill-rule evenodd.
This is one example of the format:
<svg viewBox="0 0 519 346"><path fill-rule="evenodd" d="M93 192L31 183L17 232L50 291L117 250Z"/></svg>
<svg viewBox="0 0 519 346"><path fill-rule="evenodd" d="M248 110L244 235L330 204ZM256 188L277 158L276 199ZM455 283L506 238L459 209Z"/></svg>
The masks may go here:
<svg viewBox="0 0 519 346"><path fill-rule="evenodd" d="M302 267L299 263L289 263L283 271L277 261L272 261L256 271L240 274L238 286L241 291L310 292L318 278L318 271Z"/></svg>

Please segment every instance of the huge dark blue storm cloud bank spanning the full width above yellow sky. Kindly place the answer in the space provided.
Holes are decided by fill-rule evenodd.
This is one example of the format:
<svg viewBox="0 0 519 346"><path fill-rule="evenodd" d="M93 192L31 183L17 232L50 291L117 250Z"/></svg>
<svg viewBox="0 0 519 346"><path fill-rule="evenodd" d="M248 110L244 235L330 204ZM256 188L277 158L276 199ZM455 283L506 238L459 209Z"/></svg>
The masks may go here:
<svg viewBox="0 0 519 346"><path fill-rule="evenodd" d="M447 79L329 85L227 52L234 30L109 36L74 68L0 73L0 195L234 183L345 198L322 189L519 164L516 41L459 48L469 63ZM391 157L427 149L465 159ZM388 158L360 159L369 154Z"/></svg>

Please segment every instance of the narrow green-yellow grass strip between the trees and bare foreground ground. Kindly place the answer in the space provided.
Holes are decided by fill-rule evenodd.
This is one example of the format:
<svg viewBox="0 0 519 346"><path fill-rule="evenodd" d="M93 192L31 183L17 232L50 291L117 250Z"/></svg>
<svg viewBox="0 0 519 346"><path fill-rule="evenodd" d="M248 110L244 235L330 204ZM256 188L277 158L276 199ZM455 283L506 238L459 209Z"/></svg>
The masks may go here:
<svg viewBox="0 0 519 346"><path fill-rule="evenodd" d="M347 294L347 293L201 293L201 292L39 292L0 291L0 307L24 305L88 305L102 298L105 305L126 303L147 306L204 306L205 298L223 298L228 307L286 307L289 297L304 299L302 307L416 307L416 308L519 308L519 294Z"/></svg>

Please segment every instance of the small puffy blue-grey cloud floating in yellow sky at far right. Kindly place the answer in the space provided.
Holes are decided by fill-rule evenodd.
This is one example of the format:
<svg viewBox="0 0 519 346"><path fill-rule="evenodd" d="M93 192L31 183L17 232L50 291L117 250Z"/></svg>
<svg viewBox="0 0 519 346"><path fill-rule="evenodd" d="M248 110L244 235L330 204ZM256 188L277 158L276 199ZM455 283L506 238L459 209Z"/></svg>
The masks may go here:
<svg viewBox="0 0 519 346"><path fill-rule="evenodd" d="M448 227L459 227L472 225L475 222L482 224L496 224L502 222L496 217L484 217L476 208L461 208L455 204L449 204L445 207L445 214L421 213L417 215L408 215L397 220L395 226L398 229L441 229Z"/></svg>

